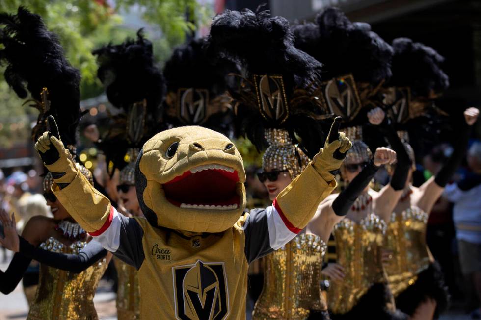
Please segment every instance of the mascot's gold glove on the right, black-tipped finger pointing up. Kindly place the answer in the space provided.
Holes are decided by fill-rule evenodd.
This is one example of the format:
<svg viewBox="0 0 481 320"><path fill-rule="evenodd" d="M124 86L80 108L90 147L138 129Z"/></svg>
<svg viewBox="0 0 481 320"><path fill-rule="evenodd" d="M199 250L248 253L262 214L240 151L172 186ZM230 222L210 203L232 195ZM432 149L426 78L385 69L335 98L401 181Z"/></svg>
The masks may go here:
<svg viewBox="0 0 481 320"><path fill-rule="evenodd" d="M346 134L338 132L340 125L341 117L336 117L329 130L324 148L311 161L313 168L328 182L334 180L347 151L352 147L352 143L346 137Z"/></svg>

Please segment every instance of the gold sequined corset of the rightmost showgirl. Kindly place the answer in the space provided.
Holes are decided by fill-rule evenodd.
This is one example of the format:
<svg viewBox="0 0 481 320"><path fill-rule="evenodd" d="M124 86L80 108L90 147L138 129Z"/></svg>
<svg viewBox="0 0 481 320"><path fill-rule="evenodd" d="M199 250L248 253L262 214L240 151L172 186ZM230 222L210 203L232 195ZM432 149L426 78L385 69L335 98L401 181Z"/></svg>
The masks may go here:
<svg viewBox="0 0 481 320"><path fill-rule="evenodd" d="M416 282L417 275L426 270L432 261L426 245L427 222L428 214L416 207L391 216L386 249L392 251L392 258L385 268L394 296Z"/></svg>

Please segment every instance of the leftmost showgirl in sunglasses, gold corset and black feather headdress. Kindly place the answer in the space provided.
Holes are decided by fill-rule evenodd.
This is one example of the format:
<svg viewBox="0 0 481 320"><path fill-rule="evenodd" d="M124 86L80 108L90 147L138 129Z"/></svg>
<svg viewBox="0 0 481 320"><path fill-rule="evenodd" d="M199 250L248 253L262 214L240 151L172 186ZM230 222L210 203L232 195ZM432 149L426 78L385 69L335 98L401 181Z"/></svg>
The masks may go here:
<svg viewBox="0 0 481 320"><path fill-rule="evenodd" d="M5 78L20 98L26 98L28 90L34 106L40 110L32 138L36 140L47 129L47 117L54 115L58 120L57 134L75 155L80 118L78 70L63 57L57 37L45 28L38 15L20 7L17 15L0 15L0 24L4 25L0 42L5 47L1 56L8 63ZM80 164L76 166L93 184L92 174ZM40 282L27 319L98 319L93 296L109 257L98 243L87 245L91 238L53 195L54 174L48 172L43 182L53 219L32 217L19 239L14 218L10 220L4 211L0 214L6 236L1 239L2 244L20 251L15 253L7 271L0 273L0 290L6 294L15 289L34 258L41 262ZM49 266L59 259L81 262L77 272L84 271L75 273Z"/></svg>

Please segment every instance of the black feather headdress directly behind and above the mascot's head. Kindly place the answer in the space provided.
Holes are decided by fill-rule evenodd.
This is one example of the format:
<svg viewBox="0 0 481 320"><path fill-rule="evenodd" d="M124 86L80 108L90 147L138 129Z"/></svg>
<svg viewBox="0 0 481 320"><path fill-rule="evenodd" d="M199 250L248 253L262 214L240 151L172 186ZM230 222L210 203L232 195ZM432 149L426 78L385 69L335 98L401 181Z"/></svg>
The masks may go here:
<svg viewBox="0 0 481 320"><path fill-rule="evenodd" d="M226 94L230 73L239 72L227 59L208 54L205 38L174 49L165 63L166 121L172 126L202 125L232 135L232 99Z"/></svg>

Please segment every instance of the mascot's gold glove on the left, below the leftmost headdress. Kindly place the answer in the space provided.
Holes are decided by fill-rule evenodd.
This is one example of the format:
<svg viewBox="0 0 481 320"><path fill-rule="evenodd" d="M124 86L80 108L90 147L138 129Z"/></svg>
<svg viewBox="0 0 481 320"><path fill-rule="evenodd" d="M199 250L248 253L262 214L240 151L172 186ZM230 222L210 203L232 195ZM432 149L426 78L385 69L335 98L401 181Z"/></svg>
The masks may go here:
<svg viewBox="0 0 481 320"><path fill-rule="evenodd" d="M61 189L74 180L78 172L75 162L63 143L50 132L38 138L35 149Z"/></svg>

